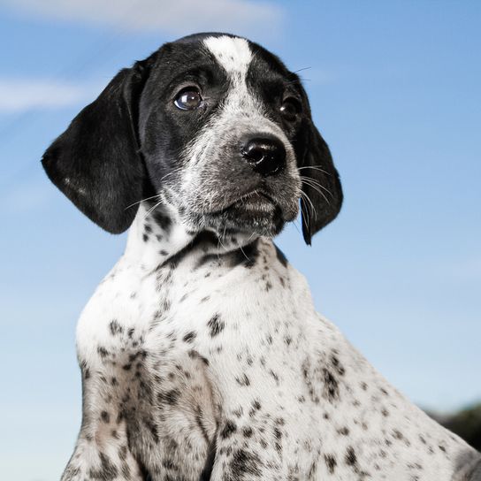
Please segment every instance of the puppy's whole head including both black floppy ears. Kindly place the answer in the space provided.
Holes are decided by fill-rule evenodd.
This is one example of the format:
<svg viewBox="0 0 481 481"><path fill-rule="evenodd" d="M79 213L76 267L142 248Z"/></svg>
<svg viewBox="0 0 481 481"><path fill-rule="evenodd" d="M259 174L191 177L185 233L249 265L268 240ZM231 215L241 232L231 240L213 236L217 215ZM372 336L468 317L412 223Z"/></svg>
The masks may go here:
<svg viewBox="0 0 481 481"><path fill-rule="evenodd" d="M195 34L120 71L42 159L111 233L153 197L190 231L274 235L302 208L306 242L335 218L338 172L295 73L256 43Z"/></svg>

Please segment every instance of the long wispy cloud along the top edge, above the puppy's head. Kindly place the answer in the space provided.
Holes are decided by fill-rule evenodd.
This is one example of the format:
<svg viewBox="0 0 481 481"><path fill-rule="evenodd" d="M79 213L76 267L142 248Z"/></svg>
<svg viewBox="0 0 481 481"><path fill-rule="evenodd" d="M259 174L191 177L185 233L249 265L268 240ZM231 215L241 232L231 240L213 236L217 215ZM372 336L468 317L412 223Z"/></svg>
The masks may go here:
<svg viewBox="0 0 481 481"><path fill-rule="evenodd" d="M279 5L248 0L3 0L2 4L50 19L172 34L272 33L279 30L283 17Z"/></svg>

